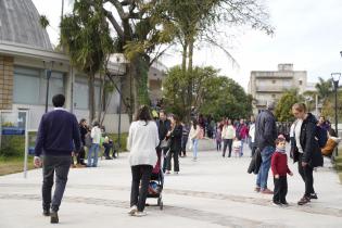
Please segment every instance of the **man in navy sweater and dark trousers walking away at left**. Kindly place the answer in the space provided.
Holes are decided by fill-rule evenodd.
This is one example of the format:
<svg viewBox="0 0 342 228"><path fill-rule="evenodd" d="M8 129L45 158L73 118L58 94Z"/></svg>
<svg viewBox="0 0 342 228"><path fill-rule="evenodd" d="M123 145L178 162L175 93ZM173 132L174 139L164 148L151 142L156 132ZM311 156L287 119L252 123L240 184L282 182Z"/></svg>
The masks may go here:
<svg viewBox="0 0 342 228"><path fill-rule="evenodd" d="M42 166L43 215L51 216L51 223L58 224L58 211L67 181L72 153L74 145L76 151L79 151L80 136L76 116L63 109L65 97L63 94L56 94L53 97L52 103L54 110L46 113L40 121L35 148L35 166ZM42 161L40 159L41 155L43 155ZM55 190L51 203L54 173Z"/></svg>

